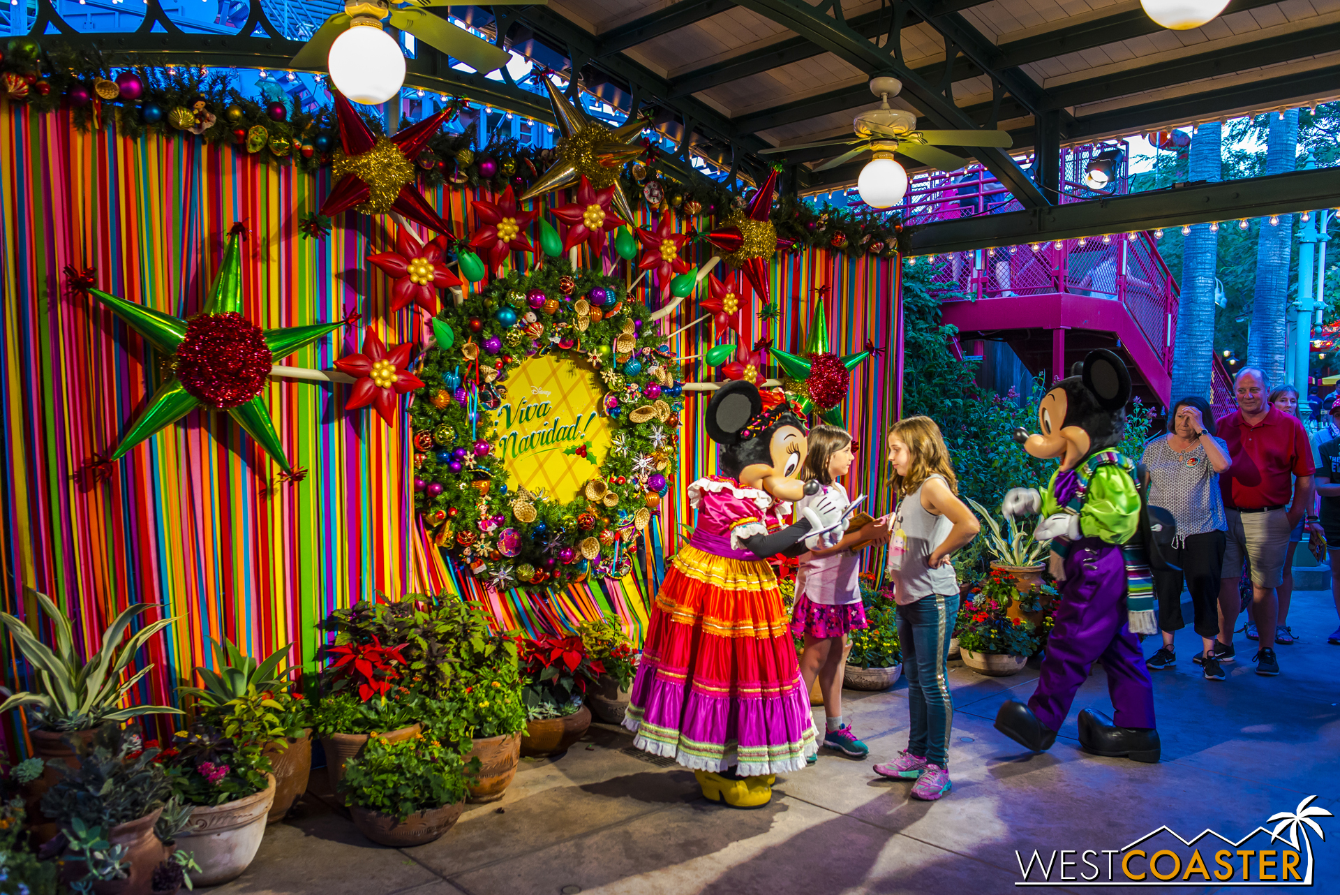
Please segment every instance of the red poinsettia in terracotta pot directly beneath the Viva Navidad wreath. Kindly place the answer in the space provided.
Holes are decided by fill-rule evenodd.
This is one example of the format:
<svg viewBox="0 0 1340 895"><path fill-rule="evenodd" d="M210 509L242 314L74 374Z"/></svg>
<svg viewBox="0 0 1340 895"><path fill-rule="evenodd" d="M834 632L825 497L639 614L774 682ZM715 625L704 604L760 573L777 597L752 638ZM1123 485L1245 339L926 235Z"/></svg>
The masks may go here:
<svg viewBox="0 0 1340 895"><path fill-rule="evenodd" d="M521 754L543 758L567 752L591 726L591 710L583 705L583 697L604 666L587 655L575 634L521 638L517 647L528 719Z"/></svg>

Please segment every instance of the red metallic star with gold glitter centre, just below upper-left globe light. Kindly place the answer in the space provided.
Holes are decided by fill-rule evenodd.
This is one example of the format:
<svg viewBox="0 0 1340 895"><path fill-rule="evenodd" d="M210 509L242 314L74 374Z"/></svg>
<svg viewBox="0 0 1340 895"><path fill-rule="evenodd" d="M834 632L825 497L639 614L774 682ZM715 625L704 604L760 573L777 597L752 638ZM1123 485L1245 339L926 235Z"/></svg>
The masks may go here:
<svg viewBox="0 0 1340 895"><path fill-rule="evenodd" d="M438 131L448 113L440 111L394 137L374 137L343 94L335 94L340 149L335 150L332 173L335 188L322 202L320 214L335 217L346 209L363 214L399 212L406 218L454 241L446 221L427 204L414 186L414 163Z"/></svg>

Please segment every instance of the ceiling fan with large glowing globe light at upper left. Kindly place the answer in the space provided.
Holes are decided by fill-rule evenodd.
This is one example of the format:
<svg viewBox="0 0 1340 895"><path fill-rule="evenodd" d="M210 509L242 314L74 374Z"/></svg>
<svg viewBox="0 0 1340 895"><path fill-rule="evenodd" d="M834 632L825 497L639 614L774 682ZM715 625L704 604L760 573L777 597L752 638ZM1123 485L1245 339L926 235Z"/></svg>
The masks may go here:
<svg viewBox="0 0 1340 895"><path fill-rule="evenodd" d="M547 0L496 0L493 5L544 5ZM505 66L512 54L431 12L452 3L433 0L347 0L289 60L293 68L330 71L342 94L359 103L383 103L405 84L405 54L382 28L414 35L429 47L480 74Z"/></svg>

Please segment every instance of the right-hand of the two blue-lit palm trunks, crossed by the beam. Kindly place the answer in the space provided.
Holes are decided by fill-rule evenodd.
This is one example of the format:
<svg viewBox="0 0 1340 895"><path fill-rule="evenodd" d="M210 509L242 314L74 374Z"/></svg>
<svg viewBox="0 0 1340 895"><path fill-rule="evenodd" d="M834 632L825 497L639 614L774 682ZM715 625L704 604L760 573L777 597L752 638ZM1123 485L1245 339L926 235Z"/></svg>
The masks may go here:
<svg viewBox="0 0 1340 895"><path fill-rule="evenodd" d="M1298 110L1266 113L1270 119L1265 173L1284 174L1297 167ZM1274 218L1272 218L1274 220ZM1293 255L1293 214L1280 214L1276 225L1264 224L1257 236L1257 281L1248 335L1248 363L1265 370L1270 387L1284 382L1284 355L1289 300L1289 267Z"/></svg>

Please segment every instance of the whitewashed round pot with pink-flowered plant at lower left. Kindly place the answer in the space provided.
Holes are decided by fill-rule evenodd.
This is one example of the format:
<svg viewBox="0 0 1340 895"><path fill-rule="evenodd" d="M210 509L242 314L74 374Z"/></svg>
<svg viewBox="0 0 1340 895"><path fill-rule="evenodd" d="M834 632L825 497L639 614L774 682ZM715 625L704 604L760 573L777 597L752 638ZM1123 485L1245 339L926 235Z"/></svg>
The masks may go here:
<svg viewBox="0 0 1340 895"><path fill-rule="evenodd" d="M196 886L218 886L241 876L265 833L265 816L275 801L275 776L257 744L240 744L206 722L180 732L157 761L173 795L193 805L176 833L198 870L188 875Z"/></svg>

